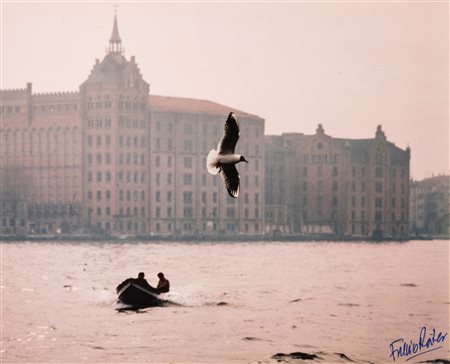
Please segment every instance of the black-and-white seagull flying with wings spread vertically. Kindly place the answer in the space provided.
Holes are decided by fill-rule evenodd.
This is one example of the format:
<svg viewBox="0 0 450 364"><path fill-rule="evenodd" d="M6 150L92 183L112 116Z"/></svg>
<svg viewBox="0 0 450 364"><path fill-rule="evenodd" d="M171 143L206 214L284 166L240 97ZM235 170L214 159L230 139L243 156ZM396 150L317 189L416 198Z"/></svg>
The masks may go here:
<svg viewBox="0 0 450 364"><path fill-rule="evenodd" d="M217 151L211 149L206 157L206 168L210 174L220 172L225 182L228 194L237 198L239 196L239 173L236 164L246 162L243 155L235 154L234 149L239 139L239 124L234 113L228 114L222 139L217 145Z"/></svg>

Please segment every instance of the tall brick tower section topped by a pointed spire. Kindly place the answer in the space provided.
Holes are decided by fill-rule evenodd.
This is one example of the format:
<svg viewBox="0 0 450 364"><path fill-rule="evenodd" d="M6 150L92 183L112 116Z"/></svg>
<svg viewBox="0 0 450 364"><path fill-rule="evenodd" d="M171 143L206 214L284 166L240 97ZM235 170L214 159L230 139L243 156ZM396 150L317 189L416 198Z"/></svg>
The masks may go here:
<svg viewBox="0 0 450 364"><path fill-rule="evenodd" d="M80 86L83 128L83 219L98 232L148 231L150 87L124 56L117 15L109 48Z"/></svg>

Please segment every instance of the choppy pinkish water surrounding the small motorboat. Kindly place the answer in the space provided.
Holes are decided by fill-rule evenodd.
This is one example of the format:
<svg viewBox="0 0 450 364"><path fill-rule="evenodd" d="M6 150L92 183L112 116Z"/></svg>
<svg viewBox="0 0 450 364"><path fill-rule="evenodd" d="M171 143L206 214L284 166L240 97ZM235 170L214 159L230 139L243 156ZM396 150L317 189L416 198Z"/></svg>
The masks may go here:
<svg viewBox="0 0 450 364"><path fill-rule="evenodd" d="M181 306L116 311L115 286L139 271L152 284L165 272ZM449 290L448 241L3 243L1 355L275 363L277 353L304 352L322 363L393 362L393 340L416 340L423 326L449 331ZM449 341L417 359L449 358Z"/></svg>

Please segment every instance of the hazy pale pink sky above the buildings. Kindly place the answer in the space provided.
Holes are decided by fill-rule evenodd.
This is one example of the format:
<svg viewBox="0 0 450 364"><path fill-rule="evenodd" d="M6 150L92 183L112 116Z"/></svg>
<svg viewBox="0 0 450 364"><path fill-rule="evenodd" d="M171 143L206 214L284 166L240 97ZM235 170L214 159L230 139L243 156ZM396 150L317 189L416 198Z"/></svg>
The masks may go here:
<svg viewBox="0 0 450 364"><path fill-rule="evenodd" d="M2 2L2 89L76 91L102 59L112 2ZM416 179L449 170L448 2L116 2L150 92L266 120L266 134L387 138ZM225 116L224 116L225 117Z"/></svg>

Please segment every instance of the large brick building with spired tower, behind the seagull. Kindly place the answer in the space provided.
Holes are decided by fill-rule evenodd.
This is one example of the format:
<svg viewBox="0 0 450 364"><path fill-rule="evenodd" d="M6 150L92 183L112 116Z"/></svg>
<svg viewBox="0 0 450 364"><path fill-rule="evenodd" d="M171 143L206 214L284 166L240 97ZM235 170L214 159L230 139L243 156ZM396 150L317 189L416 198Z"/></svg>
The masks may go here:
<svg viewBox="0 0 450 364"><path fill-rule="evenodd" d="M1 91L2 234L262 234L264 120L206 100L150 95L109 49L79 92ZM246 139L238 200L205 168L230 111ZM241 144L238 144L238 147ZM238 151L239 152L239 151Z"/></svg>

